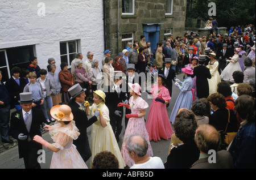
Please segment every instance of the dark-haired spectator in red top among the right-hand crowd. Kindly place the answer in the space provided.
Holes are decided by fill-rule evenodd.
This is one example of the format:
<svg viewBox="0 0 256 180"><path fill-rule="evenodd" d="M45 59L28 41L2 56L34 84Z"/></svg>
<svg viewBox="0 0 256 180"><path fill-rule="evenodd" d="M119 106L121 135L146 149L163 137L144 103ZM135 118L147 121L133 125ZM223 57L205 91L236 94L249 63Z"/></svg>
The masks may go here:
<svg viewBox="0 0 256 180"><path fill-rule="evenodd" d="M234 112L235 111L235 109L234 109L234 99L232 97L232 91L231 91L229 83L227 83L227 82L218 83L217 92L225 97L226 108L227 109L232 109L233 112Z"/></svg>

